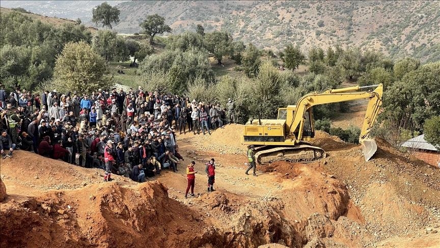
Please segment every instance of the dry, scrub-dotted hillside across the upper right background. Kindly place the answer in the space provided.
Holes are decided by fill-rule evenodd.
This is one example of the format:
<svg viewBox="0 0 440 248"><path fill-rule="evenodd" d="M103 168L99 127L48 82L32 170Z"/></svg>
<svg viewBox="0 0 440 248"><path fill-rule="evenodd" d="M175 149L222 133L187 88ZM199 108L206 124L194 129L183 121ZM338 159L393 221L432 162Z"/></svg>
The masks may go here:
<svg viewBox="0 0 440 248"><path fill-rule="evenodd" d="M117 5L119 33L140 32L146 15L166 17L173 33L224 29L260 48L293 43L372 48L393 58L440 60L438 1L132 1Z"/></svg>

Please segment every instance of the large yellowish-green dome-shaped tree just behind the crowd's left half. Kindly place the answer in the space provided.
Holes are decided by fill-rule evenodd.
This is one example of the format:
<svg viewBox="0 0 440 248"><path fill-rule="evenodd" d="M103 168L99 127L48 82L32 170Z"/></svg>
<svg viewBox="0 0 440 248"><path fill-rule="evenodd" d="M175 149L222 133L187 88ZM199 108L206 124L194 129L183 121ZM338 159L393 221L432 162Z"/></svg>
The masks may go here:
<svg viewBox="0 0 440 248"><path fill-rule="evenodd" d="M56 84L78 92L108 88L105 61L84 41L69 42L57 58L53 77Z"/></svg>

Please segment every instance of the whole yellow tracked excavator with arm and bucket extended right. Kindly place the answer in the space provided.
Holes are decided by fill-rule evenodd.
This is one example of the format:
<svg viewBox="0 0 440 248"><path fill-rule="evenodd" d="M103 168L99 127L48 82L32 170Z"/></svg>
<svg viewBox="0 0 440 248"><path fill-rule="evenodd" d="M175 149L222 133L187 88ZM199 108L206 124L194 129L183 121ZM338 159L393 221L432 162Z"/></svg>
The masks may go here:
<svg viewBox="0 0 440 248"><path fill-rule="evenodd" d="M370 91L361 91L374 88ZM376 142L368 137L382 105L383 87L380 85L354 86L342 89L313 92L301 97L296 105L278 109L277 119L250 119L244 125L243 145L254 145L255 159L259 164L274 161L312 162L325 157L325 151L312 146L315 127L312 106L369 99L359 143L365 160L376 152Z"/></svg>

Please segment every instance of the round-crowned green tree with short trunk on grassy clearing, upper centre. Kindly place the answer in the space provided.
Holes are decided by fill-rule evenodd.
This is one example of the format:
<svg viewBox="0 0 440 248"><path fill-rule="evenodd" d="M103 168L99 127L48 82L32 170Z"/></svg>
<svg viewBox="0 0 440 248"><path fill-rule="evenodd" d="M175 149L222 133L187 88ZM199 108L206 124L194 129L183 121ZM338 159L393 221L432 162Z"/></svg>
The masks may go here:
<svg viewBox="0 0 440 248"><path fill-rule="evenodd" d="M222 64L223 56L231 53L232 36L224 31L214 31L205 34L204 38L208 51L214 55L219 65Z"/></svg>

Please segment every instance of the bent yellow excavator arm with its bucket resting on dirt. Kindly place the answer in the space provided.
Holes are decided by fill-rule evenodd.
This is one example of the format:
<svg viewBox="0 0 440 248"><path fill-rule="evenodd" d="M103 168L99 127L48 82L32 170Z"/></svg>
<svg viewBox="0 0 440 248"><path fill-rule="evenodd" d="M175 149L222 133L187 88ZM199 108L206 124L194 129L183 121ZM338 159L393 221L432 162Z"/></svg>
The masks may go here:
<svg viewBox="0 0 440 248"><path fill-rule="evenodd" d="M376 89L374 89L373 91L353 92L371 87L376 87ZM314 92L307 94L301 97L296 103L296 111L291 120L291 124L288 127L288 135L293 138L294 133L297 133L298 136L295 140L298 143L301 141L304 128L303 116L306 111L312 106L335 102L353 101L359 99L369 99L364 123L361 129L361 135L359 137L359 143L362 144L365 159L366 161L368 161L377 150L375 142L369 139L368 134L370 133L374 121L376 120L376 117L379 113L379 107L380 105L382 105L382 94L382 84L365 87L355 86L343 89L327 90L322 93ZM297 130L299 130L299 132Z"/></svg>

